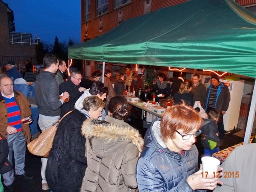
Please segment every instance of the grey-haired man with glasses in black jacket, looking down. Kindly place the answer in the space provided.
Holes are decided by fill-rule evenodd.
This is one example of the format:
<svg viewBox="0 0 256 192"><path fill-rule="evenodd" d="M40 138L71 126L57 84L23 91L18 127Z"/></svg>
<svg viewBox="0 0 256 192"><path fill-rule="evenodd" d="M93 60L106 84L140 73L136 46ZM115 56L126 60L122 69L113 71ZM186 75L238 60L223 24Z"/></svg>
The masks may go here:
<svg viewBox="0 0 256 192"><path fill-rule="evenodd" d="M60 117L63 117L67 112L75 109L75 103L78 98L84 93L86 88L80 87L82 74L80 71L72 71L68 81L64 81L59 85L59 95L67 91L69 93L69 102L65 102L61 108Z"/></svg>

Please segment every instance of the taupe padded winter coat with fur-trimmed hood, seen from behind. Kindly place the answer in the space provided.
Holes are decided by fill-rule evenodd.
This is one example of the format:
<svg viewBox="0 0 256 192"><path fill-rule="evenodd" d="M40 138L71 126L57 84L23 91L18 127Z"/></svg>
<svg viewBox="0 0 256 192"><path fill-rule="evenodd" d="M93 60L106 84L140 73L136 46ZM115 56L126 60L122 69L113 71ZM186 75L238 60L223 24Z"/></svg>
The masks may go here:
<svg viewBox="0 0 256 192"><path fill-rule="evenodd" d="M87 138L88 167L81 192L136 191L136 164L143 146L139 132L130 126L99 120L91 123L89 119L82 125L82 135Z"/></svg>

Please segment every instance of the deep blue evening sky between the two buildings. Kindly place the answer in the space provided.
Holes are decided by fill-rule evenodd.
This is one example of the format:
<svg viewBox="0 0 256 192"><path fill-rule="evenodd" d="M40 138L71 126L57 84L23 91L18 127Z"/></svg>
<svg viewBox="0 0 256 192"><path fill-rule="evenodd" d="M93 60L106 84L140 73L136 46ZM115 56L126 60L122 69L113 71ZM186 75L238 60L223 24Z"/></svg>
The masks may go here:
<svg viewBox="0 0 256 192"><path fill-rule="evenodd" d="M14 11L16 32L37 34L53 43L72 38L81 42L80 0L3 0Z"/></svg>

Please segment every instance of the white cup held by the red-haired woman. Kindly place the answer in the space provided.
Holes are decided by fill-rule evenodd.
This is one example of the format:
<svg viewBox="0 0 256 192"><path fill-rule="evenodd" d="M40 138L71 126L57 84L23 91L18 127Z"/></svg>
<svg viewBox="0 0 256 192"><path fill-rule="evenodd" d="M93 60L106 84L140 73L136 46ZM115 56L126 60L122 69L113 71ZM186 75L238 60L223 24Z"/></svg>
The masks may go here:
<svg viewBox="0 0 256 192"><path fill-rule="evenodd" d="M203 172L208 172L208 174L217 174L219 169L220 161L214 157L202 157L202 169Z"/></svg>

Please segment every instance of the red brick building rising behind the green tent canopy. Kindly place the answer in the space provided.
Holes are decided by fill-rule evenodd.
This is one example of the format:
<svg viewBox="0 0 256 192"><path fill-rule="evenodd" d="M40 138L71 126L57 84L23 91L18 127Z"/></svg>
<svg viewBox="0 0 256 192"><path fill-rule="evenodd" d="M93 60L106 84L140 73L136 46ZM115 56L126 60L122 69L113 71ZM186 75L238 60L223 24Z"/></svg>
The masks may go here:
<svg viewBox="0 0 256 192"><path fill-rule="evenodd" d="M189 0L81 0L81 40L86 42L110 31L128 18L154 12L157 9L178 5ZM234 0L239 5L256 14L256 0ZM184 12L185 13L185 12ZM152 26L154 27L154 26ZM86 76L102 64L95 61L83 61L82 71ZM116 72L125 72L124 64L106 64L106 68ZM166 67L160 71L168 73Z"/></svg>

